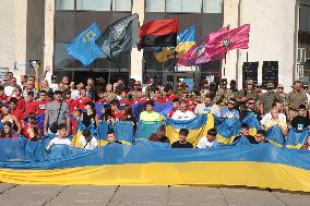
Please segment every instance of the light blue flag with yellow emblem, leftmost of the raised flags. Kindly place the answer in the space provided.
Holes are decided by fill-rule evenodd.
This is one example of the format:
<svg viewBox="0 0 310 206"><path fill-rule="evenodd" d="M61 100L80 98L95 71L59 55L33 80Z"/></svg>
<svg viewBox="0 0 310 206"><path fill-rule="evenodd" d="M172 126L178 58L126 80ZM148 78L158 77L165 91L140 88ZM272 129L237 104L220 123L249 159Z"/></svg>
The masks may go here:
<svg viewBox="0 0 310 206"><path fill-rule="evenodd" d="M90 65L97 58L106 58L105 53L95 44L95 40L103 34L96 23L79 34L68 46L70 56L81 61L85 66Z"/></svg>

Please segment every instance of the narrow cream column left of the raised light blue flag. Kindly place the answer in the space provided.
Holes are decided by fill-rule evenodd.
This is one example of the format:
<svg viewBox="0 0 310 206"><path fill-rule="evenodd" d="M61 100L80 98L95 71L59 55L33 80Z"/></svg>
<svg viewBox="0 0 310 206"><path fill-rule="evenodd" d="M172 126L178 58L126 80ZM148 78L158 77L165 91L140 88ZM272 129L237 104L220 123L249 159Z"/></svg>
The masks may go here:
<svg viewBox="0 0 310 206"><path fill-rule="evenodd" d="M45 3L45 44L44 44L44 62L43 68L50 68L46 78L50 82L52 74L52 56L53 56L53 15L55 0L46 0Z"/></svg>

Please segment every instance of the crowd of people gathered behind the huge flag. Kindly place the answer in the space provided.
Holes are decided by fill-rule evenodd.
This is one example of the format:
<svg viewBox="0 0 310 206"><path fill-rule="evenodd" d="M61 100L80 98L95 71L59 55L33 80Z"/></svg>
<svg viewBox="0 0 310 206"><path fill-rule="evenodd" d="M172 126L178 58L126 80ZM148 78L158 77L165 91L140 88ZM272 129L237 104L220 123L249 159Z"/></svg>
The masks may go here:
<svg viewBox="0 0 310 206"><path fill-rule="evenodd" d="M36 70L38 68L35 68ZM57 136L48 144L48 149L56 144L70 145L67 138L74 135L79 122L85 125L83 136L79 140L79 147L93 149L98 141L92 136L88 126L98 125L100 121L115 124L118 121L131 121L134 131L138 121L164 121L167 117L172 120L191 120L196 116L212 113L220 119L245 119L253 113L262 125L254 136L249 134L249 125L242 124L240 135L234 141L247 141L250 144L266 143L265 131L278 125L284 135L290 129L298 131L309 130L309 86L300 81L294 82L291 92L286 94L282 84L269 83L266 90L263 86L254 85L253 81L246 82L243 89L238 90L236 81L223 78L219 86L215 82L203 82L194 92L179 82L172 85L145 84L133 78L128 85L122 78L115 84L96 84L92 77L86 84L70 82L69 76L58 81L56 75L51 81L39 81L38 76L21 77L17 83L12 72L8 72L7 81L0 85L1 101L1 134L0 138L15 138L24 136L29 141L39 141L50 133ZM136 120L131 106L145 104L145 109ZM154 111L155 102L171 102L172 109L166 114ZM96 104L104 107L98 116ZM44 117L44 125L35 121ZM189 130L179 131L179 141L170 143L166 136L165 125L158 128L156 134L150 136L151 141L170 143L172 148L193 148L187 142ZM200 138L198 148L217 147L216 129L207 131L207 135ZM121 144L114 131L108 132L108 143ZM310 149L310 137L305 142L305 149Z"/></svg>

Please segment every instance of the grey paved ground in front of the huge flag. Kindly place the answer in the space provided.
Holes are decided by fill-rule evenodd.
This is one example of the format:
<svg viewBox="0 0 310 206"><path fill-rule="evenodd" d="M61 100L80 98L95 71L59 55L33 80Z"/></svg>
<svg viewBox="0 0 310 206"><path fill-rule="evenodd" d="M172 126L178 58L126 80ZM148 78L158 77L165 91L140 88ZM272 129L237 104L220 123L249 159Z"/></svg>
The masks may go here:
<svg viewBox="0 0 310 206"><path fill-rule="evenodd" d="M0 184L0 206L309 206L310 194L245 187Z"/></svg>

